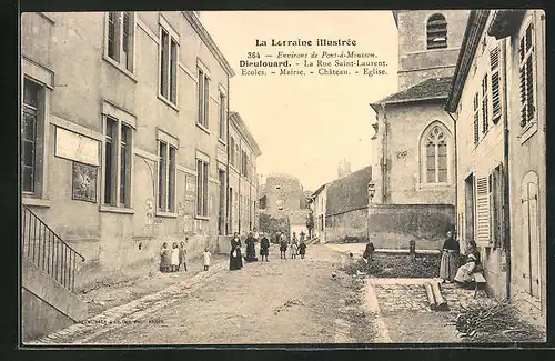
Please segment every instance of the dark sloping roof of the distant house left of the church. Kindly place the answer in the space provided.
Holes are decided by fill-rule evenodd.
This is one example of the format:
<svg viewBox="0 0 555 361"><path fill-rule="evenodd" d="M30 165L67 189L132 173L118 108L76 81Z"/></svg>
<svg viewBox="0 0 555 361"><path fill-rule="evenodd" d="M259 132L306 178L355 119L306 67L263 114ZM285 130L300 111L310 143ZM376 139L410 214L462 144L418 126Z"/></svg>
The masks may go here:
<svg viewBox="0 0 555 361"><path fill-rule="evenodd" d="M371 180L372 167L369 166L327 183L326 215L366 208Z"/></svg>

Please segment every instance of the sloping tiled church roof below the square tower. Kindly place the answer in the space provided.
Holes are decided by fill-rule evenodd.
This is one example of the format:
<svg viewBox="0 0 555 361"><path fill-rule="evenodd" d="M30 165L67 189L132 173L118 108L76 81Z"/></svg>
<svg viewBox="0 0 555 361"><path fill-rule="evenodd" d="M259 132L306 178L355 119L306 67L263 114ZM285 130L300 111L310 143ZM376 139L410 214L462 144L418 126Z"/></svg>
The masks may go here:
<svg viewBox="0 0 555 361"><path fill-rule="evenodd" d="M406 90L391 94L373 104L406 103L411 101L447 98L453 77L431 78Z"/></svg>

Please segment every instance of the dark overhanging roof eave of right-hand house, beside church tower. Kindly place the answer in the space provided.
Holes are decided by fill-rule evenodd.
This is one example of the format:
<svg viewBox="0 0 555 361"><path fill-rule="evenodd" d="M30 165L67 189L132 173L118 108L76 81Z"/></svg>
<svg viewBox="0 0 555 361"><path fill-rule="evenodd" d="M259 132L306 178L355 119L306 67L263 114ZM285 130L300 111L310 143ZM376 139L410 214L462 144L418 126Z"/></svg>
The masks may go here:
<svg viewBox="0 0 555 361"><path fill-rule="evenodd" d="M472 10L468 16L463 43L461 44L461 51L458 52L455 66L455 77L453 78L447 101L445 102L445 110L450 112L455 111L458 100L461 100L464 83L466 82L466 77L468 76L488 14L490 10Z"/></svg>

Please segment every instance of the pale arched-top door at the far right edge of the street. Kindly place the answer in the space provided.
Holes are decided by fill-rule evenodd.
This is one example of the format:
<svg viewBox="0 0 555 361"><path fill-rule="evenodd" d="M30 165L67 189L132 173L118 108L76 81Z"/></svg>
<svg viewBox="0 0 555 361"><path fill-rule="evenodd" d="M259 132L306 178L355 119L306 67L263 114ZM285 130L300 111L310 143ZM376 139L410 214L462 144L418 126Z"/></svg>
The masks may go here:
<svg viewBox="0 0 555 361"><path fill-rule="evenodd" d="M522 184L523 240L525 291L534 298L541 297L541 252L539 252L539 217L537 174L529 172Z"/></svg>

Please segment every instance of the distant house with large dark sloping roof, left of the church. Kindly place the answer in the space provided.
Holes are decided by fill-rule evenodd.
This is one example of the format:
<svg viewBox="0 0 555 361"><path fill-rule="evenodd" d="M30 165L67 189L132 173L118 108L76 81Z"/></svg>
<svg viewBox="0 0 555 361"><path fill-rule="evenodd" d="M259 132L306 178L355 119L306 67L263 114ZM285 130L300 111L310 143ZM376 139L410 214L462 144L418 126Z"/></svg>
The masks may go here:
<svg viewBox="0 0 555 361"><path fill-rule="evenodd" d="M314 234L322 242L367 237L369 183L372 167L337 178L312 194Z"/></svg>

